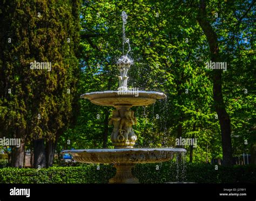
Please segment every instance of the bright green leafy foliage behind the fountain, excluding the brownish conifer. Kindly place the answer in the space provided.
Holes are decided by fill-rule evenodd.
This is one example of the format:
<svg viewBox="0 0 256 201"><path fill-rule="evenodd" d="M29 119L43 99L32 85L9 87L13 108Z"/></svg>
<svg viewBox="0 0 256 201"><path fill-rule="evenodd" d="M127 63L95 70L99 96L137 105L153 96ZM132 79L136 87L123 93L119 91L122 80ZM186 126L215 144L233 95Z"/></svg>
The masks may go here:
<svg viewBox="0 0 256 201"><path fill-rule="evenodd" d="M207 8L208 20L220 40L221 58L227 62L223 91L226 110L231 117L233 153L237 156L248 153L248 148L256 141L253 134L255 87L252 84L255 35L252 34L253 26L248 26L253 21L252 9L238 24L250 4L250 1L235 1L232 5L209 1ZM123 10L128 15L125 31L130 39L130 56L134 60L129 70L129 86L167 95L166 100L158 100L153 105L132 108L138 118L138 125L134 126L139 137L137 146L173 147L178 125L181 125L183 138L197 138L194 161L210 162L221 158L212 75L205 68L210 51L196 20L197 2L84 1L80 18L83 27L80 32L80 94L117 89L115 63L122 55L120 14ZM218 18L214 12L218 12ZM242 42L241 35L248 36L247 43ZM244 94L244 88L250 92ZM79 103L81 110L77 124L62 136L59 150L102 147L105 111L112 109L93 105L88 100ZM100 119L96 118L97 114L100 114ZM156 118L157 114L159 118ZM69 146L66 145L68 139L72 139ZM244 144L245 139L248 139L248 145ZM111 147L111 143L108 145ZM190 149L189 146L184 148Z"/></svg>

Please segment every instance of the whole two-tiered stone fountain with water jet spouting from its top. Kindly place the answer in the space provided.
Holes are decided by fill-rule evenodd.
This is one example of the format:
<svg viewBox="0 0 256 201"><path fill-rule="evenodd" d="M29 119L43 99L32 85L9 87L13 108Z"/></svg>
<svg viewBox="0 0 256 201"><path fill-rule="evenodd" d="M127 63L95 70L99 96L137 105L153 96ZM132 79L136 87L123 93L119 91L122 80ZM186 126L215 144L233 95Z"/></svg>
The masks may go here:
<svg viewBox="0 0 256 201"><path fill-rule="evenodd" d="M123 19L123 54L125 40L124 24L127 15L122 12ZM130 51L130 45L129 45ZM111 141L114 149L79 149L65 150L63 153L70 153L73 159L82 163L111 163L117 169L116 175L109 180L109 183L138 183L134 178L131 169L136 163L165 162L173 158L174 153L186 152L182 148L133 148L137 135L132 126L136 125L137 118L134 117L133 106L146 106L156 102L157 99L166 98L166 95L155 91L134 91L127 88L127 71L130 69L132 60L129 56L123 55L117 61L120 71L119 88L117 91L96 91L81 95L89 99L93 104L112 106L112 116L109 125L113 125Z"/></svg>

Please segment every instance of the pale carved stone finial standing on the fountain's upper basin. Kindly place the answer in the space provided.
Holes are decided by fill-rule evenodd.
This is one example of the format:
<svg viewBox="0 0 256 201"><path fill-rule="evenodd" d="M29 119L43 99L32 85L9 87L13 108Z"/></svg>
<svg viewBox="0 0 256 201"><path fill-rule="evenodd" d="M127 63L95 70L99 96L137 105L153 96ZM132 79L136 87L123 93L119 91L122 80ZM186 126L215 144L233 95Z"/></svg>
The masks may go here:
<svg viewBox="0 0 256 201"><path fill-rule="evenodd" d="M133 61L128 58L128 56L121 56L120 59L117 61L117 66L120 71L120 76L119 78L119 87L118 91L126 91L128 90L127 88L127 81L128 81L128 76L127 76L127 71L130 69L131 64Z"/></svg>

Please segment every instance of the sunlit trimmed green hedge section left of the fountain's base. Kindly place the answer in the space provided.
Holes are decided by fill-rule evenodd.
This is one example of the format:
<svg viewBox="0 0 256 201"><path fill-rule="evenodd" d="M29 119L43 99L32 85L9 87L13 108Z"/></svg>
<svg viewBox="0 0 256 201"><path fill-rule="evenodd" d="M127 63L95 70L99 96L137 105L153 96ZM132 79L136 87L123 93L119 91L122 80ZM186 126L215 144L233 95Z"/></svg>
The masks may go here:
<svg viewBox="0 0 256 201"><path fill-rule="evenodd" d="M0 169L0 183L107 183L111 166L52 167L48 169Z"/></svg>

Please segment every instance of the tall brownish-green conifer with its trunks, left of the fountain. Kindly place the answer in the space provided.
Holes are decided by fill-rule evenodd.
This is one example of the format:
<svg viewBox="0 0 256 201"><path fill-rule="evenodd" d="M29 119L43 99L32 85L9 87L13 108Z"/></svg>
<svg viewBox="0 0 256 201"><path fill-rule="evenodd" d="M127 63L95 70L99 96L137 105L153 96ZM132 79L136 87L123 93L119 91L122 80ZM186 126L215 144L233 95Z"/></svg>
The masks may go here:
<svg viewBox="0 0 256 201"><path fill-rule="evenodd" d="M80 1L1 3L1 128L23 142L12 149L14 167L23 166L29 143L34 167L51 166L59 135L74 117L79 8ZM34 62L43 69L31 68Z"/></svg>

